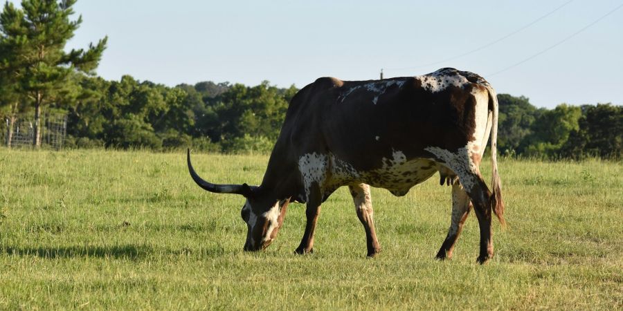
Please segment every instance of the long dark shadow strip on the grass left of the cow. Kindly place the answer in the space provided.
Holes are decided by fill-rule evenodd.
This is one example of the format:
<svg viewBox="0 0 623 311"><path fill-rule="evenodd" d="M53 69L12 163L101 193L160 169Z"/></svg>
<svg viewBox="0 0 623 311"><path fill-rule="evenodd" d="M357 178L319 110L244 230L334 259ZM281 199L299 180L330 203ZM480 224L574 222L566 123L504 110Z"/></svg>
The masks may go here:
<svg viewBox="0 0 623 311"><path fill-rule="evenodd" d="M1 247L9 256L33 256L40 258L125 258L136 260L149 256L152 248L146 245L111 245L111 246L51 246L51 247Z"/></svg>

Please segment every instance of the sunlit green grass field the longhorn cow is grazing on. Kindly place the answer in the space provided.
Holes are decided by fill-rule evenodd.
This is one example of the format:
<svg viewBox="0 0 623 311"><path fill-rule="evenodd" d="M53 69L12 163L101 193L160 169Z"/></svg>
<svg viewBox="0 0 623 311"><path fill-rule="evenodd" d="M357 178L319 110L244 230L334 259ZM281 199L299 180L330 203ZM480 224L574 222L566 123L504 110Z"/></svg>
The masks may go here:
<svg viewBox="0 0 623 311"><path fill-rule="evenodd" d="M257 184L267 160L193 163ZM454 258L433 259L451 209L437 176L402 198L372 190L377 258L345 188L323 205L314 254L293 254L300 204L249 254L243 199L199 189L183 153L0 149L0 308L622 309L623 165L502 159L500 173L509 228L495 224L481 266L473 214Z"/></svg>

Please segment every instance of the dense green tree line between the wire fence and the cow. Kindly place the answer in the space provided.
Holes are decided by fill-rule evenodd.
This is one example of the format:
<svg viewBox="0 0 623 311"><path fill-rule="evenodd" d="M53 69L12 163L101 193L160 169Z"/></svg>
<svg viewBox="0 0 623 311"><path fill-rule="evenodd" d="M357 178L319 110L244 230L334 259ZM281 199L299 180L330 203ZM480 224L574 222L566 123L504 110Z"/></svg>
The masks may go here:
<svg viewBox="0 0 623 311"><path fill-rule="evenodd" d="M269 82L168 87L129 75L80 79L88 95L66 107L71 147L268 153L298 91Z"/></svg>

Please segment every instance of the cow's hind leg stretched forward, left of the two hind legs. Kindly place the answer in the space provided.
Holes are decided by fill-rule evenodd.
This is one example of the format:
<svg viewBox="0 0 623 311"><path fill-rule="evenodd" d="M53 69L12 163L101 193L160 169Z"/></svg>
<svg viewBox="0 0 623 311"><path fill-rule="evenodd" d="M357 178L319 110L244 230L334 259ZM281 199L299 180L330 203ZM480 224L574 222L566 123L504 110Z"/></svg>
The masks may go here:
<svg viewBox="0 0 623 311"><path fill-rule="evenodd" d="M448 236L446 236L446 240L437 253L438 259L452 258L454 245L461 234L463 224L470 210L471 202L469 196L459 182L454 182L452 185L452 220L450 229L448 230Z"/></svg>

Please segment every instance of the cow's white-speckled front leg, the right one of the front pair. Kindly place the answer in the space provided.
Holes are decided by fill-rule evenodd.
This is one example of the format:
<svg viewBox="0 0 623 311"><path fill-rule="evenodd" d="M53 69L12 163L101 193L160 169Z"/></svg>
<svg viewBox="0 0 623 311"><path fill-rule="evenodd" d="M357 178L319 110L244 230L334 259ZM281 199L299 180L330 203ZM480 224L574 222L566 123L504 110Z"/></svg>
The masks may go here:
<svg viewBox="0 0 623 311"><path fill-rule="evenodd" d="M374 211L372 211L372 198L370 196L370 186L365 184L348 186L352 200L354 201L357 217L363 229L365 229L365 241L368 244L368 256L374 257L374 255L381 252L381 245L377 240L377 232L374 229L374 218L372 217Z"/></svg>

